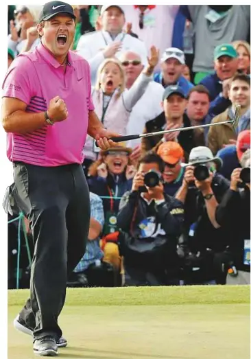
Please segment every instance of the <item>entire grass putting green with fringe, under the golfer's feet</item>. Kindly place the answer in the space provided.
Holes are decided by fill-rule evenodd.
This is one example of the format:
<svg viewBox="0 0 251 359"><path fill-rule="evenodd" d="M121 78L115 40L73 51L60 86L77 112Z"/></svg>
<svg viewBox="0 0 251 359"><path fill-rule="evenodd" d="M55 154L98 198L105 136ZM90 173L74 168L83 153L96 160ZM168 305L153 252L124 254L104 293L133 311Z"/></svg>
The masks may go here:
<svg viewBox="0 0 251 359"><path fill-rule="evenodd" d="M29 292L9 291L8 358L32 359L12 321ZM250 359L249 286L68 290L64 359Z"/></svg>

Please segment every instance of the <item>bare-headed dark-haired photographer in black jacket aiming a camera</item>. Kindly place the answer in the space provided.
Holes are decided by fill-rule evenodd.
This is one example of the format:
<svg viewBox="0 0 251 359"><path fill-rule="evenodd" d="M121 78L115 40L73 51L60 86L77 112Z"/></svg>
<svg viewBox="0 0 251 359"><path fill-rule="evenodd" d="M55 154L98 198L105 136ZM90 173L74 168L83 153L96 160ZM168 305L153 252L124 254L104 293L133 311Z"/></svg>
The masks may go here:
<svg viewBox="0 0 251 359"><path fill-rule="evenodd" d="M158 154L146 154L138 166L132 191L124 194L117 216L123 231L119 248L125 285L178 285L182 203L164 192L164 163Z"/></svg>

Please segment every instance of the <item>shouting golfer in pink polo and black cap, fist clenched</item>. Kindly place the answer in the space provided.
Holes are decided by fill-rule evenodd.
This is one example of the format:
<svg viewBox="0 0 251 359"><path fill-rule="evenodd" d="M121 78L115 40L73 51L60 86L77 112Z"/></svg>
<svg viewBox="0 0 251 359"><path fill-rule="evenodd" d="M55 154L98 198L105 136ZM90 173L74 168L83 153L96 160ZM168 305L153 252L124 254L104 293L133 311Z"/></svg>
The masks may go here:
<svg viewBox="0 0 251 359"><path fill-rule="evenodd" d="M34 238L31 292L14 321L34 336L34 354L58 355L66 346L58 316L67 275L83 257L90 220L82 170L86 135L101 150L118 136L104 128L91 99L88 62L69 51L75 35L73 8L46 3L37 25L41 43L14 59L3 82L1 121L14 167L14 198Z"/></svg>

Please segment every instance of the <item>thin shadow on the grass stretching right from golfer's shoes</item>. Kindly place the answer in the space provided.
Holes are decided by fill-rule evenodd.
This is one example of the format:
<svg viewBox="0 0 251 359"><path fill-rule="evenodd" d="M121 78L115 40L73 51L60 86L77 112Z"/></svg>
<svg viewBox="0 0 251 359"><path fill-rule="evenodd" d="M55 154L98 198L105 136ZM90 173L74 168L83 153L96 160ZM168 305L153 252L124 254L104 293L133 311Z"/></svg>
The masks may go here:
<svg viewBox="0 0 251 359"><path fill-rule="evenodd" d="M97 349L86 349L86 348L80 348L80 347L69 347L64 349L65 352L62 353L60 351L60 357L64 358L86 358L86 359L108 359L107 355L110 355L112 359L121 359L121 356L123 356L123 359L125 357L130 358L152 358L152 359L193 359L191 357L184 358L184 356L161 356L156 354L139 354L139 353L128 353L128 352L122 352L122 351L108 351L108 350L97 350ZM70 351L82 351L83 354L70 354ZM69 354L67 354L67 351L69 351ZM86 354L90 352L90 354ZM115 358L117 356L117 358Z"/></svg>

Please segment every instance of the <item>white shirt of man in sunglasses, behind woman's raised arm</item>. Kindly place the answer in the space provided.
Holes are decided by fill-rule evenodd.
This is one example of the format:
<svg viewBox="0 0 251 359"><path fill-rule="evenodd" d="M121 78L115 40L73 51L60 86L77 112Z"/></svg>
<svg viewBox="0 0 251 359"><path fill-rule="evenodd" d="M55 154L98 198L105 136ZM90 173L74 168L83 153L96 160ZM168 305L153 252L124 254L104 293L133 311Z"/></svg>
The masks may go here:
<svg viewBox="0 0 251 359"><path fill-rule="evenodd" d="M163 112L161 102L164 91L164 87L157 82L151 81L148 84L145 93L132 108L126 128L127 135L140 135L143 133L146 122ZM140 143L141 139L134 139L130 143L128 141L127 146L135 148Z"/></svg>

